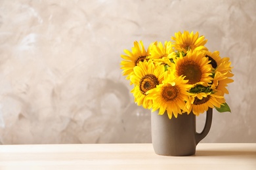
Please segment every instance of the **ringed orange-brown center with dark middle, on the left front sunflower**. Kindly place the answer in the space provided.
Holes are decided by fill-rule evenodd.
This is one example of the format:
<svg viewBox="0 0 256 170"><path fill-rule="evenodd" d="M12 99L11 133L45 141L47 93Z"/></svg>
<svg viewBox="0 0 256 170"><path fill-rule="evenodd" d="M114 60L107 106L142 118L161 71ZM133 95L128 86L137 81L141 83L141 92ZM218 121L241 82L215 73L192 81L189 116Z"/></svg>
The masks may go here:
<svg viewBox="0 0 256 170"><path fill-rule="evenodd" d="M156 88L158 85L158 78L155 75L145 75L140 79L140 92L146 95L146 92L152 88Z"/></svg>

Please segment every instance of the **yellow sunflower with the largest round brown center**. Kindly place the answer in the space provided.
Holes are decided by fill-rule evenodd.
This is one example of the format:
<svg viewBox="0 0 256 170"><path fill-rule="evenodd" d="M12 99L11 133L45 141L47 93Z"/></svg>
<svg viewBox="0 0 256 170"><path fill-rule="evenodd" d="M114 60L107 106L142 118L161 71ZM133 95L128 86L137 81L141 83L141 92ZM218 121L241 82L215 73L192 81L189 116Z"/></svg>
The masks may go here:
<svg viewBox="0 0 256 170"><path fill-rule="evenodd" d="M203 52L198 50L189 51L185 57L174 58L175 64L170 69L175 70L176 76L185 76L184 80L188 80L188 84L196 86L202 84L208 86L213 78L211 77L211 65L209 60L205 58Z"/></svg>

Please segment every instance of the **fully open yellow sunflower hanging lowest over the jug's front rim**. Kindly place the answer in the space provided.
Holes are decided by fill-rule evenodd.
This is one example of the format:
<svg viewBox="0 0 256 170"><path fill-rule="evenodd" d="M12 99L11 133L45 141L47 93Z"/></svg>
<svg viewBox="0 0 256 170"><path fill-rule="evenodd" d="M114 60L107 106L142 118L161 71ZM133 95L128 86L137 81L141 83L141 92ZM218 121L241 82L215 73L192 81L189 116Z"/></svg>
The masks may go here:
<svg viewBox="0 0 256 170"><path fill-rule="evenodd" d="M175 77L168 72L169 74L165 73L163 83L149 90L147 94L153 100L152 111L159 109L159 114L162 115L166 110L171 119L173 115L177 118L178 114L182 114L182 109L188 101L189 86L186 84L188 80L184 80L184 77Z"/></svg>

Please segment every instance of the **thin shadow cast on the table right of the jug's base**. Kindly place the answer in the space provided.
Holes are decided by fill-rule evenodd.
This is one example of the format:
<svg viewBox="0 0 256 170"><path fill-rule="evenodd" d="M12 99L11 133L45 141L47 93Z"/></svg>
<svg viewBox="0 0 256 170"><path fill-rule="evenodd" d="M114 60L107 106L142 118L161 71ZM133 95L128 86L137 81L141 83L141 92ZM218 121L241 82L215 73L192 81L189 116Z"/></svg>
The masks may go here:
<svg viewBox="0 0 256 170"><path fill-rule="evenodd" d="M255 151L241 150L197 150L195 156L255 156Z"/></svg>

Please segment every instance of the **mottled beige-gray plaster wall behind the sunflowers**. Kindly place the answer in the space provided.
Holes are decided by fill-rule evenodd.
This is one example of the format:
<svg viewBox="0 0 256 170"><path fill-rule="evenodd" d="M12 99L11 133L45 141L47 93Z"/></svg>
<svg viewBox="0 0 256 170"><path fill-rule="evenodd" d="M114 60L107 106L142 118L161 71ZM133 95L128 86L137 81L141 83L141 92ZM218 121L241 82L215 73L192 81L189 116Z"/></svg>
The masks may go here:
<svg viewBox="0 0 256 170"><path fill-rule="evenodd" d="M150 111L133 103L120 54L184 30L234 66L232 113L214 110L202 143L255 143L255 9L255 0L0 0L0 143L150 143Z"/></svg>

